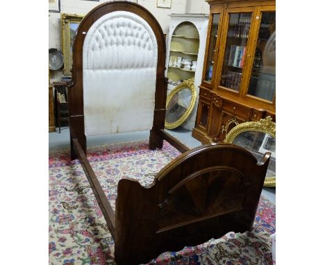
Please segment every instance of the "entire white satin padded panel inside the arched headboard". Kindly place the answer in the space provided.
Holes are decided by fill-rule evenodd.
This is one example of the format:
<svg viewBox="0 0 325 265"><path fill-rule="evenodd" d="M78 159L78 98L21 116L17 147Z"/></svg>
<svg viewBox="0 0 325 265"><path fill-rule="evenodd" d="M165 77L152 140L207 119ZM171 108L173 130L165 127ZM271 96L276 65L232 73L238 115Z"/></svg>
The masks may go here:
<svg viewBox="0 0 325 265"><path fill-rule="evenodd" d="M149 130L156 91L157 41L132 12L94 22L83 43L85 135Z"/></svg>

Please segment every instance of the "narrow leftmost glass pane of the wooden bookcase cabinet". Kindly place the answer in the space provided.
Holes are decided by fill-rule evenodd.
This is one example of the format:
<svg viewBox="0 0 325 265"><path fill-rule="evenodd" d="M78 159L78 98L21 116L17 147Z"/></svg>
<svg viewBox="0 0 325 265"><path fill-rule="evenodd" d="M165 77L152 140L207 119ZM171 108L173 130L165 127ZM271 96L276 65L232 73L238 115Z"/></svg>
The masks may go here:
<svg viewBox="0 0 325 265"><path fill-rule="evenodd" d="M217 43L217 33L219 28L219 19L220 14L213 14L213 21L210 29L210 41L208 46L208 56L206 58L206 74L204 80L206 82L211 83L211 79L213 76L213 65L214 65L214 57L215 57L215 44Z"/></svg>

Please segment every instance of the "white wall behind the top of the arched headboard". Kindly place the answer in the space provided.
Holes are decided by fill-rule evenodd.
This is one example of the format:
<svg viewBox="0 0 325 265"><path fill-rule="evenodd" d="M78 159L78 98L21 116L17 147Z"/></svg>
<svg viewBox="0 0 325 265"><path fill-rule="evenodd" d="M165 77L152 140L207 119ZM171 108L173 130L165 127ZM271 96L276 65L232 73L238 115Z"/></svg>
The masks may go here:
<svg viewBox="0 0 325 265"><path fill-rule="evenodd" d="M92 8L110 1L60 0L61 13L86 15ZM183 14L185 12L208 13L208 3L204 0L172 0L172 8L157 8L157 0L138 0L138 3L147 8L158 20L163 32L168 35L169 14ZM49 12L49 48L61 48L61 21L60 13ZM51 81L60 81L62 71L51 71Z"/></svg>

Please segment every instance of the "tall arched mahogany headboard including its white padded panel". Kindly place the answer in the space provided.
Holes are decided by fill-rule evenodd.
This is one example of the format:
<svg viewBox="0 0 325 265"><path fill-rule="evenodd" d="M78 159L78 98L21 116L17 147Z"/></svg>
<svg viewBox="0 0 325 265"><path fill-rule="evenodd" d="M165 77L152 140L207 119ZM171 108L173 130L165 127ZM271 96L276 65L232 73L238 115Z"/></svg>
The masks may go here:
<svg viewBox="0 0 325 265"><path fill-rule="evenodd" d="M165 36L137 3L103 3L86 15L73 45L70 134L86 136L164 128ZM161 147L157 133L151 148ZM74 156L74 155L72 155Z"/></svg>

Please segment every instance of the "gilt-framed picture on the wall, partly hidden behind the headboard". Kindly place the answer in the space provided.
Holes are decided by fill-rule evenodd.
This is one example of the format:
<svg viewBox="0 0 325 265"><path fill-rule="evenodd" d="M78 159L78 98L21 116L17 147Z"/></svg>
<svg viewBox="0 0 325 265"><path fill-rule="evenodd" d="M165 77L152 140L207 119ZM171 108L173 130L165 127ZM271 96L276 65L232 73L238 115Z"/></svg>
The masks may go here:
<svg viewBox="0 0 325 265"><path fill-rule="evenodd" d="M83 17L84 15L61 14L61 41L64 62L63 74L65 76L71 76L74 35Z"/></svg>

